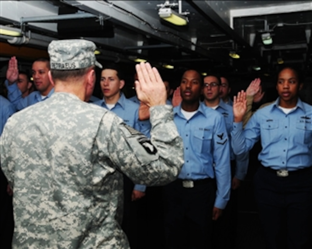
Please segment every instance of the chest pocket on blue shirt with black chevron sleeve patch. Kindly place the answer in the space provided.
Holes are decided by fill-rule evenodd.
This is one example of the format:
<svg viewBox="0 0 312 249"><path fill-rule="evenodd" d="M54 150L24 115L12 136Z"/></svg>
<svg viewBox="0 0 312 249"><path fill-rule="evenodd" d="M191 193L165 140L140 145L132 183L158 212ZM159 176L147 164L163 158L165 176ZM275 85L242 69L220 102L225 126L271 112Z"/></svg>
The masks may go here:
<svg viewBox="0 0 312 249"><path fill-rule="evenodd" d="M202 154L203 152L210 151L212 128L194 131L192 140L192 147L195 153Z"/></svg>

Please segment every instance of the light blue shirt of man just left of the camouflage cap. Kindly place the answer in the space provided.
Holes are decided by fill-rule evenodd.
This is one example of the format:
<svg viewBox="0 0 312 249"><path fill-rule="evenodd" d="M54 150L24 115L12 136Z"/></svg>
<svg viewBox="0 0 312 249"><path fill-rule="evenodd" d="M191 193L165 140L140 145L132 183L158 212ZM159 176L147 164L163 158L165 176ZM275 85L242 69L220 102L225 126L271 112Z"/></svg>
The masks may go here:
<svg viewBox="0 0 312 249"><path fill-rule="evenodd" d="M22 92L18 89L16 83L9 85L8 81L5 80L4 84L7 87L7 92L8 92L7 98L15 106L17 111L20 111L26 108L27 106L33 105L37 102L44 100L41 98L41 94L38 91L34 91L31 94L29 94L27 97L22 98ZM51 91L48 93L46 98L51 97L53 93L54 93L54 88L51 89Z"/></svg>

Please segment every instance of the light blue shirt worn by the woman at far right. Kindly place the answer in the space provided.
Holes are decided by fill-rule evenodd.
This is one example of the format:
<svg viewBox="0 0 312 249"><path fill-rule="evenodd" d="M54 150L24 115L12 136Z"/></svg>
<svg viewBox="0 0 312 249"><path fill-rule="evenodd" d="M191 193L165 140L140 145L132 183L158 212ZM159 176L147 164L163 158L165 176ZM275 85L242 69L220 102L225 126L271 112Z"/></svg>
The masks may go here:
<svg viewBox="0 0 312 249"><path fill-rule="evenodd" d="M312 106L298 99L296 108L285 114L279 98L254 113L242 131L242 122L234 123L234 153L249 151L261 139L258 159L265 167L302 169L312 165Z"/></svg>

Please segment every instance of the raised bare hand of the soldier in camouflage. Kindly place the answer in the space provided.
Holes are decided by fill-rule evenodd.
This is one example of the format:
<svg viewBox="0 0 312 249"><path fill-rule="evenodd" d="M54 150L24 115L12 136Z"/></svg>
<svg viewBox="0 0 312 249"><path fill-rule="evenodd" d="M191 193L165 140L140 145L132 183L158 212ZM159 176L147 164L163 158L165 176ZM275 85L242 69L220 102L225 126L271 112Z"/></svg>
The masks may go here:
<svg viewBox="0 0 312 249"><path fill-rule="evenodd" d="M135 69L139 79L135 81L138 99L149 107L165 105L167 92L158 70L148 62L135 65Z"/></svg>

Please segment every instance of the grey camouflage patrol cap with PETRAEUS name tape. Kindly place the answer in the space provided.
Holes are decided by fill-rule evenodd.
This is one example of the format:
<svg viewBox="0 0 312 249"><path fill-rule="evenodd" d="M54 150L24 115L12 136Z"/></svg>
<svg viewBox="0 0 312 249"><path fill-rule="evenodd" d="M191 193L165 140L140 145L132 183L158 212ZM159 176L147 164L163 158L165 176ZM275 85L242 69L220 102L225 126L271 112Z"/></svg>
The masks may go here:
<svg viewBox="0 0 312 249"><path fill-rule="evenodd" d="M48 46L50 67L55 70L74 70L93 65L102 68L96 61L95 44L83 39L51 41Z"/></svg>

